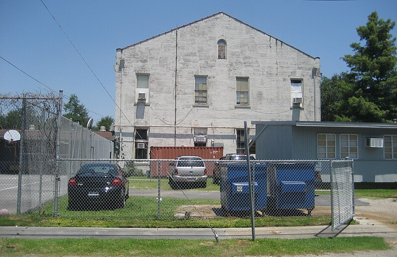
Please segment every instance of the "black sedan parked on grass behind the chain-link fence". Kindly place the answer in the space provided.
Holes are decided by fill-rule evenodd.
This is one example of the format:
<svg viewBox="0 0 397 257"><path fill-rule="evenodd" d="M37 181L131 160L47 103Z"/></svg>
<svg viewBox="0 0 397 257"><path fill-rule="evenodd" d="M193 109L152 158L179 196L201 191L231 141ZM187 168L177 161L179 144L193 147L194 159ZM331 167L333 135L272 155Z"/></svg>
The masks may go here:
<svg viewBox="0 0 397 257"><path fill-rule="evenodd" d="M129 197L127 177L117 164L85 164L69 179L68 209L124 208Z"/></svg>

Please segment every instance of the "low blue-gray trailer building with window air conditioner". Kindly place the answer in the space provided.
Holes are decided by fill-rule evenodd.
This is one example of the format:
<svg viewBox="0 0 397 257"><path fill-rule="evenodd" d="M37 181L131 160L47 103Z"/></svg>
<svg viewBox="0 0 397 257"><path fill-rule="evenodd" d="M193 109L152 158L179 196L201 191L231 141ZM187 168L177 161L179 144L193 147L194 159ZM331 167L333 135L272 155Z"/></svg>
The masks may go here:
<svg viewBox="0 0 397 257"><path fill-rule="evenodd" d="M397 124L252 122L259 160L354 160L360 186L397 186ZM327 176L323 176L323 182ZM357 184L359 183L359 184ZM365 184L364 184L365 183ZM377 183L377 184L374 184Z"/></svg>

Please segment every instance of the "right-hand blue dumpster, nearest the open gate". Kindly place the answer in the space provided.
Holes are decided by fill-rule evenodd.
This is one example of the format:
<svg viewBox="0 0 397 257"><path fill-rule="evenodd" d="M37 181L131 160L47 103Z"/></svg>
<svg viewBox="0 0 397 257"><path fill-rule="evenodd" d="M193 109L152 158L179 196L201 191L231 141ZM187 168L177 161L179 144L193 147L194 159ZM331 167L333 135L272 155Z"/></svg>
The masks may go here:
<svg viewBox="0 0 397 257"><path fill-rule="evenodd" d="M267 167L268 207L314 209L315 162L269 162Z"/></svg>

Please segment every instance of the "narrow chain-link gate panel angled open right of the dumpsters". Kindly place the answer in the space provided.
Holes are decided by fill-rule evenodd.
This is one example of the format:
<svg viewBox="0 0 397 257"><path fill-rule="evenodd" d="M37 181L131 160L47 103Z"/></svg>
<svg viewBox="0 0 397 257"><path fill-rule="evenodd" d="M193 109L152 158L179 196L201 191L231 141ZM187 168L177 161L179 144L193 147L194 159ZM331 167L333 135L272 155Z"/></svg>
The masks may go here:
<svg viewBox="0 0 397 257"><path fill-rule="evenodd" d="M354 216L354 174L352 160L331 162L332 231Z"/></svg>

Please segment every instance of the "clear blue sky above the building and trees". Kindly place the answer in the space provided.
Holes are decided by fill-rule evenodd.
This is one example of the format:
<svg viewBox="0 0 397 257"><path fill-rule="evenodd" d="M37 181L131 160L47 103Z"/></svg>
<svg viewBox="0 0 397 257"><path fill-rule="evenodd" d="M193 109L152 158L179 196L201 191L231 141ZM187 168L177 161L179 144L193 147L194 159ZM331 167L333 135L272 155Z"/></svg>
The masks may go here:
<svg viewBox="0 0 397 257"><path fill-rule="evenodd" d="M324 76L348 70L340 60L359 42L356 27L376 10L397 21L396 0L43 0L94 71L89 70L41 0L0 0L0 57L55 91L76 94L98 121L115 104L116 49L223 11L321 58ZM397 36L397 28L392 31ZM0 59L0 94L46 87ZM64 99L67 102L67 99Z"/></svg>

